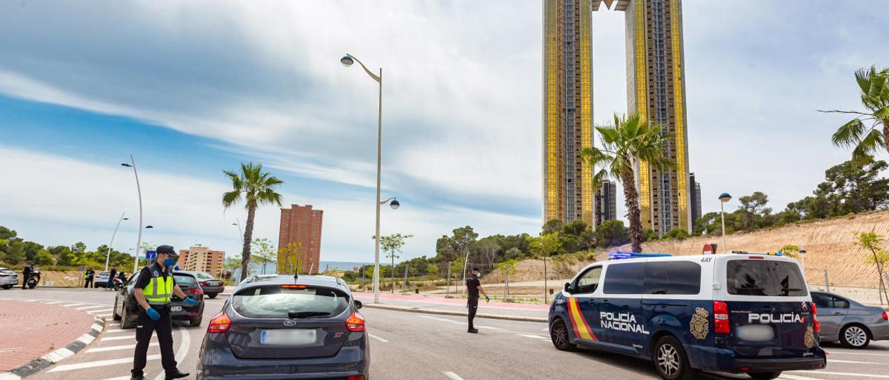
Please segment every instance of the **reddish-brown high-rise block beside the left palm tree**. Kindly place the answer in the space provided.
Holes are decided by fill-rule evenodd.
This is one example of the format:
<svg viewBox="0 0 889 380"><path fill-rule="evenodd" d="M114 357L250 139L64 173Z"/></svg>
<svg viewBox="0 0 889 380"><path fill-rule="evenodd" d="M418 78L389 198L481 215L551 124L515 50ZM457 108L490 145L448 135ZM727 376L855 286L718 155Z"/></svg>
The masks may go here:
<svg viewBox="0 0 889 380"><path fill-rule="evenodd" d="M312 210L312 205L292 204L281 209L278 230L277 271L292 274L296 270L316 273L321 262L321 222L323 210Z"/></svg>

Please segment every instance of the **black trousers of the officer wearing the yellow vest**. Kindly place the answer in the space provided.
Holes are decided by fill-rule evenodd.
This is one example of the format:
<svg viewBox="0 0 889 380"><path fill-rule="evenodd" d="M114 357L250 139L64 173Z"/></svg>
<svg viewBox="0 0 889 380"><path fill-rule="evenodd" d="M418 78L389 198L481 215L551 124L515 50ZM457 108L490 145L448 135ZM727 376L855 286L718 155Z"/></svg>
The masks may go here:
<svg viewBox="0 0 889 380"><path fill-rule="evenodd" d="M172 320L170 309L166 306L152 306L161 319L151 321L144 311L139 313L136 321L136 352L132 358L132 376L145 376L145 356L148 354L148 344L151 342L151 334L157 331L157 344L161 347L161 365L164 372L171 374L176 372L176 358L172 352ZM124 317L125 318L125 317Z"/></svg>

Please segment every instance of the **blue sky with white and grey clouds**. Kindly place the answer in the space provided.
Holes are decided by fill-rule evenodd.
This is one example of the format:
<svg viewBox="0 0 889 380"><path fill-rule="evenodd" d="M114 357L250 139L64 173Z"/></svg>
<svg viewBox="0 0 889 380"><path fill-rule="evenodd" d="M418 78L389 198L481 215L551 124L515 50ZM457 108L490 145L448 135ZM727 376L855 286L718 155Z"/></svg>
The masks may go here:
<svg viewBox="0 0 889 380"><path fill-rule="evenodd" d="M851 155L853 72L889 66L881 1L685 0L690 170L702 209L811 194ZM240 252L222 170L261 162L324 210L322 260L372 261L382 67L382 234L541 228L541 1L0 2L0 226L45 245ZM627 112L624 15L593 15L594 122ZM885 158L885 157L882 157ZM619 215L625 210L619 197ZM729 202L729 210L737 208ZM277 241L279 211L254 237Z"/></svg>

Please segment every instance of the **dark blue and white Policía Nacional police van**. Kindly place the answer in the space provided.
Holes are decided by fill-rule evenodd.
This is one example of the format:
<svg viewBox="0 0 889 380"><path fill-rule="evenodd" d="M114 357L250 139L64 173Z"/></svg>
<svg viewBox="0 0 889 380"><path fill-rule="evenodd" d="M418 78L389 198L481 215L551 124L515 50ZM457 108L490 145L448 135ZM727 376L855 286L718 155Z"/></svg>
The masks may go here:
<svg viewBox="0 0 889 380"><path fill-rule="evenodd" d="M595 348L652 360L668 380L698 370L755 379L827 364L797 261L733 252L679 256L612 252L553 298L557 349Z"/></svg>

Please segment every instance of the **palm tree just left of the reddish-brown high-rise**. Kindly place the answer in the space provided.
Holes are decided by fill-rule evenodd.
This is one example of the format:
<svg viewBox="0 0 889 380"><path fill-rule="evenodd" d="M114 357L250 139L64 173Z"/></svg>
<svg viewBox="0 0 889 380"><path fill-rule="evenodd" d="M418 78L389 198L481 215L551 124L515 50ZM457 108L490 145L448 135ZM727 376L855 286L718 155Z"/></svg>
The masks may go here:
<svg viewBox="0 0 889 380"><path fill-rule="evenodd" d="M222 206L228 210L244 198L244 208L247 209L247 225L244 226L244 249L241 251L241 281L247 278L247 265L250 265L250 242L253 236L253 217L256 216L256 208L263 204L276 204L281 207L281 194L275 193L275 187L284 181L272 176L268 171L262 171L260 163L241 162L241 172L223 170L226 177L231 179L232 191L222 194Z"/></svg>

